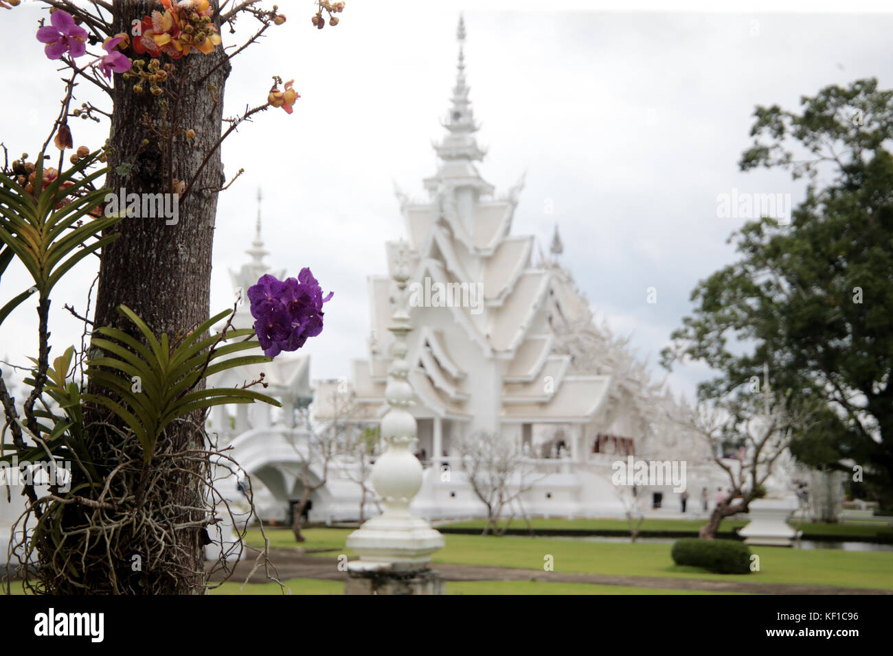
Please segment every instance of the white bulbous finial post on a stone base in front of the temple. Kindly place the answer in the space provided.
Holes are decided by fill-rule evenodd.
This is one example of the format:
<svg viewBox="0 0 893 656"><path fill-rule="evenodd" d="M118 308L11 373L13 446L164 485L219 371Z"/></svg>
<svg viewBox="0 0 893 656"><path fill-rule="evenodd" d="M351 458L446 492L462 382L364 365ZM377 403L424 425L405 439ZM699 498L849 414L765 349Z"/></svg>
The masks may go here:
<svg viewBox="0 0 893 656"><path fill-rule="evenodd" d="M410 451L416 439L416 423L409 411L413 386L406 360L406 335L413 329L406 307L406 281L411 275L406 251L401 242L392 267L398 294L388 327L394 336L385 389L390 407L381 419L384 453L375 461L371 474L384 511L347 536L347 548L360 557L347 565L348 594L443 594L442 581L428 569L428 563L431 554L443 547L444 538L409 511L421 488L422 469Z"/></svg>

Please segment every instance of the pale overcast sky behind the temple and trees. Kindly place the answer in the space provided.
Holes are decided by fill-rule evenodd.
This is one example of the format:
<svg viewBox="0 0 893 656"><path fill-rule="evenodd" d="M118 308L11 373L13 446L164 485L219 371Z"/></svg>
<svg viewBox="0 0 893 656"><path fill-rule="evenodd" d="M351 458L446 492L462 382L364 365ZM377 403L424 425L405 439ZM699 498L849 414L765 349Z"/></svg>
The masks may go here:
<svg viewBox="0 0 893 656"><path fill-rule="evenodd" d="M365 355L365 279L385 272L384 241L404 236L393 183L422 199L421 179L436 170L430 144L444 133L460 9L478 141L488 148L481 174L502 192L527 172L513 234L536 235L547 250L557 224L563 263L657 376L691 289L733 259L725 241L743 220L717 218L717 195L737 187L802 198L784 171L739 171L755 105L796 110L801 95L830 84L893 82L888 14L555 11L526 2L511 5L530 11L501 11L507 5L348 0L337 27L316 30L312 3L280 2L288 22L233 61L225 113L263 103L274 74L295 79L302 97L292 115L264 112L223 146L228 177L246 173L219 203L213 311L230 305L228 269L247 261L260 186L268 262L290 275L309 266L335 292L321 336L305 346L312 377L348 375L350 359ZM34 38L38 15L35 6L0 10L0 140L13 155L37 151L61 96L54 62ZM227 30L223 38L235 43ZM95 148L107 127L85 121L72 131L76 146ZM79 344L81 327L62 305L82 310L95 275L95 262L84 262L55 288L55 351ZM23 270L12 270L0 296L27 286ZM23 363L36 353L34 306L23 303L4 323L0 356ZM690 392L704 376L689 368L671 382Z"/></svg>

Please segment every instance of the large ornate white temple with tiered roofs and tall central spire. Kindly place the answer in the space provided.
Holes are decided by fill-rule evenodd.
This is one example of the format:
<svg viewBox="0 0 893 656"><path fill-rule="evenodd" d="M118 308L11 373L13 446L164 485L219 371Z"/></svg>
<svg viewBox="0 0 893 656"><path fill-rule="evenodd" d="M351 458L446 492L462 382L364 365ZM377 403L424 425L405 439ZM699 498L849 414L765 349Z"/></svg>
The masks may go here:
<svg viewBox="0 0 893 656"><path fill-rule="evenodd" d="M463 477L457 444L483 432L519 445L539 472L522 495L524 511L622 513L611 484L614 461L673 453L691 461L692 453L682 453L681 444L673 449L655 424L656 406L672 400L650 382L625 343L593 323L588 302L559 264L557 228L550 258L535 257L533 236L512 234L523 182L497 195L480 176L476 162L485 153L475 138L461 19L457 36L458 71L443 121L447 134L434 146L437 172L424 179L428 198L397 192L405 240L386 244L388 275L369 278L369 357L353 364L352 420L375 425L387 408L388 322L396 293L390 274L404 251L413 271L407 359L413 365L417 453L429 466L413 512L431 519L480 516L483 504ZM314 418L332 420L332 400L345 392L338 381L318 382ZM701 490L691 483L695 473L689 469L692 505ZM707 477L704 468L697 485L712 485ZM670 487L648 494L663 494L651 497L660 506L675 496ZM327 519L356 515L355 501L324 495L313 509Z"/></svg>

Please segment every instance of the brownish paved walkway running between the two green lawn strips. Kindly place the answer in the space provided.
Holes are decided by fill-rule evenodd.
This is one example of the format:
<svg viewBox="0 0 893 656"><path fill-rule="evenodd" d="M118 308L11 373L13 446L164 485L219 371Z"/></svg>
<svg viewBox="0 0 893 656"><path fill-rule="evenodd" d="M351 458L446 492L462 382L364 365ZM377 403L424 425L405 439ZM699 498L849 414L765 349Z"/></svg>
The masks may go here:
<svg viewBox="0 0 893 656"><path fill-rule="evenodd" d="M271 549L270 560L279 570L280 580L287 578L320 578L343 581L346 572L338 569L338 559L310 556L295 549ZM254 565L249 554L241 561L230 581L242 582ZM746 583L735 580L672 577L628 577L605 574L547 572L538 569L515 569L488 565L457 565L438 563L432 566L447 581L541 581L553 583L588 583L596 585L631 585L672 590L704 590L713 593L753 594L893 594L893 590L869 590L830 585L795 585L782 583ZM255 572L249 583L267 583L263 569Z"/></svg>

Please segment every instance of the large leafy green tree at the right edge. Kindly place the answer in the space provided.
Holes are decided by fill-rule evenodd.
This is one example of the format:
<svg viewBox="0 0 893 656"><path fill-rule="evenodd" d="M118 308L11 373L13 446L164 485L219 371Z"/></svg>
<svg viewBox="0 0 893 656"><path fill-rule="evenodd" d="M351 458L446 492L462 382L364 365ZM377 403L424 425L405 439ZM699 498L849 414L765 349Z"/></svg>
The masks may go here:
<svg viewBox="0 0 893 656"><path fill-rule="evenodd" d="M789 225L764 217L730 237L739 260L700 281L695 309L672 333L663 364L701 361L715 399L764 364L772 385L825 403L791 448L813 466L864 467L893 506L893 91L877 80L803 96L800 112L758 106L741 170L806 179Z"/></svg>

